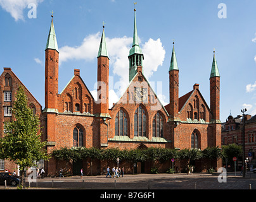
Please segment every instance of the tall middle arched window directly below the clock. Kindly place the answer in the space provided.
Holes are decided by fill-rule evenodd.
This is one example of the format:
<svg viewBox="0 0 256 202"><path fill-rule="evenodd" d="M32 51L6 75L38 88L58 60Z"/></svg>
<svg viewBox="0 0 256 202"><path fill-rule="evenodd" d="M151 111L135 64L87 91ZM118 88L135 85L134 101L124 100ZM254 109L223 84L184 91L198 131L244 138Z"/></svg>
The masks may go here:
<svg viewBox="0 0 256 202"><path fill-rule="evenodd" d="M134 136L146 137L146 113L141 106L134 114Z"/></svg>

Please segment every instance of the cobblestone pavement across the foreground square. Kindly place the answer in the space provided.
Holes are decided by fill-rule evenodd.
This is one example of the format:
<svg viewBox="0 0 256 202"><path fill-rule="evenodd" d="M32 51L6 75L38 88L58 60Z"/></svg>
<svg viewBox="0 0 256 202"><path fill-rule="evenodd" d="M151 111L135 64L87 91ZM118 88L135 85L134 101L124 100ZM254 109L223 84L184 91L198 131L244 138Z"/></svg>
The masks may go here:
<svg viewBox="0 0 256 202"><path fill-rule="evenodd" d="M219 173L203 174L138 174L120 178L99 176L46 177L31 183L29 189L256 189L256 174L227 173L226 182L218 181ZM219 177L224 180L224 178ZM27 179L26 179L27 181ZM29 182L27 181L27 187ZM0 189L5 189L0 185ZM7 186L7 189L16 187Z"/></svg>

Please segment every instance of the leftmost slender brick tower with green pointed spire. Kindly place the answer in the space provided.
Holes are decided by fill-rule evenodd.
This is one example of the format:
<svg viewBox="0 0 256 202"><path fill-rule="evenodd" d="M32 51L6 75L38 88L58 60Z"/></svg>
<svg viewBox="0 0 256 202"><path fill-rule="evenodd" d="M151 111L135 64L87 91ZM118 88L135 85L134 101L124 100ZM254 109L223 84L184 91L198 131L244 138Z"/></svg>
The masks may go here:
<svg viewBox="0 0 256 202"><path fill-rule="evenodd" d="M45 52L45 107L56 112L58 109L59 50L53 25L53 16Z"/></svg>

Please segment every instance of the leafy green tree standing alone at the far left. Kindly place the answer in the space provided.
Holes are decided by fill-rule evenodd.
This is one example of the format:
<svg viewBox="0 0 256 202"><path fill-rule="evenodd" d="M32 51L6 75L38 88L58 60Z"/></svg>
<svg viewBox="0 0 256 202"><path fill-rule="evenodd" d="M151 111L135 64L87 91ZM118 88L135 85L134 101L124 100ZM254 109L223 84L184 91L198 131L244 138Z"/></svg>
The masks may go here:
<svg viewBox="0 0 256 202"><path fill-rule="evenodd" d="M14 120L4 123L6 134L0 139L0 158L8 159L20 166L22 187L25 188L25 169L39 160L48 160L41 141L40 121L28 107L25 90L20 86L12 109Z"/></svg>

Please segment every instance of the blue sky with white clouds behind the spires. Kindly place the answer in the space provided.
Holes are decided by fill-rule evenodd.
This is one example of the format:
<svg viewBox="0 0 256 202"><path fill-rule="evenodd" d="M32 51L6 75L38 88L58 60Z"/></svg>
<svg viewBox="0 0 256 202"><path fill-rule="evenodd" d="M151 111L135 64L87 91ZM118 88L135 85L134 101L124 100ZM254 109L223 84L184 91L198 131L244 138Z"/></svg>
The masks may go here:
<svg viewBox="0 0 256 202"><path fill-rule="evenodd" d="M28 8L36 5L35 12ZM226 5L226 18L224 7ZM60 49L59 92L80 69L95 92L97 54L105 21L110 56L110 97L115 102L128 81L134 1L0 0L0 68L10 67L44 108L44 49L54 11ZM213 50L221 74L221 121L229 113L256 114L256 1L138 0L136 18L144 73L155 82L163 104L169 100L169 65L175 40L179 65L179 96L200 84L210 105L209 77ZM36 18L31 18L31 16ZM2 69L3 71L3 69ZM157 82L162 83L158 90ZM120 91L118 91L120 86ZM110 106L112 107L112 106Z"/></svg>

